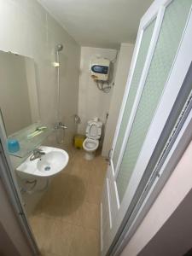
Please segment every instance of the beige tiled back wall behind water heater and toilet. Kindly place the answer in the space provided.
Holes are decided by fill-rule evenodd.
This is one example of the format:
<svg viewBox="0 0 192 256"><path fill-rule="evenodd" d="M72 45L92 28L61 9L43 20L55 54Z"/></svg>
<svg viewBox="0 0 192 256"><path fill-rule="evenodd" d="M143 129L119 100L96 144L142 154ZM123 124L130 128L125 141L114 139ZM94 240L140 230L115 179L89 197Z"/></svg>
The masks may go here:
<svg viewBox="0 0 192 256"><path fill-rule="evenodd" d="M79 116L81 124L78 128L79 133L84 134L89 119L98 117L102 120L102 123L105 122L113 93L113 89L109 93L98 90L96 83L90 77L90 63L96 57L113 60L116 53L115 49L81 47L79 77ZM114 65L113 78L115 77L116 63Z"/></svg>

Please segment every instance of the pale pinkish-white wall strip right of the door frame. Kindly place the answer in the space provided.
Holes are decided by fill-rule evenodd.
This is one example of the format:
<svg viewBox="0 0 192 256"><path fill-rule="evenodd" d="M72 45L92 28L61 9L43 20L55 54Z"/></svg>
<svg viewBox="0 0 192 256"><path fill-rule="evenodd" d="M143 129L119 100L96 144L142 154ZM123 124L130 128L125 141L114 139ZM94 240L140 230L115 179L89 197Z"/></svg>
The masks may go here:
<svg viewBox="0 0 192 256"><path fill-rule="evenodd" d="M136 256L160 230L192 188L192 142L121 256Z"/></svg>

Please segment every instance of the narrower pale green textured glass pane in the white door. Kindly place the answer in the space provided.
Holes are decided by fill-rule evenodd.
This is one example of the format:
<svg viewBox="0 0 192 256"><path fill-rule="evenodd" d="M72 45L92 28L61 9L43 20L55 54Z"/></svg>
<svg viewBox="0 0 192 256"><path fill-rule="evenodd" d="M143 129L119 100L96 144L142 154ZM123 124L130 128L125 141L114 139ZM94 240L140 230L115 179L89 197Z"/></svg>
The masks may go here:
<svg viewBox="0 0 192 256"><path fill-rule="evenodd" d="M141 46L139 49L139 53L137 56L137 62L136 62L136 67L135 67L135 71L133 73L133 77L132 77L132 81L131 81L131 88L129 91L129 95L127 97L127 101L125 104L125 111L123 114L123 119L120 125L120 129L119 129L119 135L118 135L118 139L114 148L114 153L113 153L113 167L115 169L116 165L117 165L117 161L119 158L119 152L120 152L120 148L121 145L123 143L124 137L125 137L125 130L126 130L126 125L128 124L129 121L129 117L131 114L131 108L137 93L137 88L138 88L138 84L139 81L141 79L141 75L143 72L143 66L144 63L146 61L146 56L148 54L148 47L152 38L152 34L154 31L154 24L155 24L155 20L154 19L143 31L143 38L142 38L142 42L141 42Z"/></svg>

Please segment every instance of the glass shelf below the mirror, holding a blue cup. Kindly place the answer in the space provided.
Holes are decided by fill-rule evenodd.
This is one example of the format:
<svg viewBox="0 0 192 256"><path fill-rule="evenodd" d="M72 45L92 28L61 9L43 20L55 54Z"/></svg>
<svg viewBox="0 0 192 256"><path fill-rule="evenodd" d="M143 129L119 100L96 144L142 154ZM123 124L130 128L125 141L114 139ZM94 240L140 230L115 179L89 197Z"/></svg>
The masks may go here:
<svg viewBox="0 0 192 256"><path fill-rule="evenodd" d="M46 126L46 129L35 137L29 137L34 131L37 131L38 127ZM16 139L20 143L20 150L9 154L15 155L17 157L23 158L26 157L27 154L30 154L34 148L38 148L41 143L49 137L49 135L54 131L53 127L49 127L48 125L44 125L41 123L35 123L30 126L27 126L25 129L15 132L9 139Z"/></svg>

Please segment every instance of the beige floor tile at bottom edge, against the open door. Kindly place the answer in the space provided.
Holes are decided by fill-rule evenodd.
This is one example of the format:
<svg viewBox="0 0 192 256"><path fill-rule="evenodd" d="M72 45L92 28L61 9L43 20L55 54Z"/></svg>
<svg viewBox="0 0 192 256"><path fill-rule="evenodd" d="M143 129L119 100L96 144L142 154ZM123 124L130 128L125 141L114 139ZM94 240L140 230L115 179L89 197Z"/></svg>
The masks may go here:
<svg viewBox="0 0 192 256"><path fill-rule="evenodd" d="M99 256L99 251L98 232L76 226L69 256Z"/></svg>

